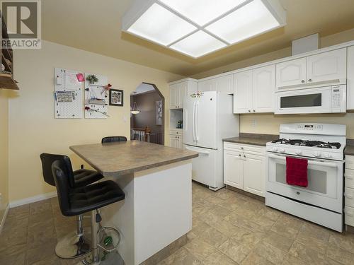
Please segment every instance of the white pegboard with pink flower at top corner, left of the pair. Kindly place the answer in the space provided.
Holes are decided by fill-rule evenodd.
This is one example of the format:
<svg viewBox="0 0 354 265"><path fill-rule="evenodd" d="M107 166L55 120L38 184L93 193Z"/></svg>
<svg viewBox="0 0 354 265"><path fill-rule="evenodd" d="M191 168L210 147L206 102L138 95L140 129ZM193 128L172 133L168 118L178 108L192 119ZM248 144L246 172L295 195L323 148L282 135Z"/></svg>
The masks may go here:
<svg viewBox="0 0 354 265"><path fill-rule="evenodd" d="M55 68L55 118L81 119L84 116L82 91L84 73Z"/></svg>

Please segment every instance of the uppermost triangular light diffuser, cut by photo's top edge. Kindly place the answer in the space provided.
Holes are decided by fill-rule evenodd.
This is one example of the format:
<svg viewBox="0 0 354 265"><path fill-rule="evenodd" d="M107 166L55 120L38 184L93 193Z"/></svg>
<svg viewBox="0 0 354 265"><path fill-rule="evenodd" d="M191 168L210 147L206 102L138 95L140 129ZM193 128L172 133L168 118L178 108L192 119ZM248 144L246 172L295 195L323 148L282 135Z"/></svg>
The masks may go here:
<svg viewBox="0 0 354 265"><path fill-rule="evenodd" d="M205 25L246 0L159 0L198 25Z"/></svg>

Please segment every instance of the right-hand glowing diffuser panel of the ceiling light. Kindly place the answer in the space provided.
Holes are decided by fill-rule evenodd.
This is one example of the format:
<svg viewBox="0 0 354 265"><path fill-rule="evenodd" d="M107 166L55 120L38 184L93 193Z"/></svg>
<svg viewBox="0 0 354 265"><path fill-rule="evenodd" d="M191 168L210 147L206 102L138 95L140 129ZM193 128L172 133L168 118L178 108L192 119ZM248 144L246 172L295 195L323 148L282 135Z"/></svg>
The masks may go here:
<svg viewBox="0 0 354 265"><path fill-rule="evenodd" d="M280 23L263 2L254 0L207 26L206 30L222 38L222 40L236 43L279 26Z"/></svg>

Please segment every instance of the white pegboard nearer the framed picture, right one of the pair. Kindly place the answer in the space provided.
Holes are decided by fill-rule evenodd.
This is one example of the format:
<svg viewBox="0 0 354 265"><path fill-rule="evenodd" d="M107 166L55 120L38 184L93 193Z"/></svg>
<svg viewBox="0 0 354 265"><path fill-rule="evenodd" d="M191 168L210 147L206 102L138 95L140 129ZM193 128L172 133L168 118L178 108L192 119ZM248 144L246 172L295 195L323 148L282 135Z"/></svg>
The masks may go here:
<svg viewBox="0 0 354 265"><path fill-rule="evenodd" d="M90 83L87 76L94 74L98 81ZM85 119L106 119L108 116L108 85L107 76L85 73Z"/></svg>

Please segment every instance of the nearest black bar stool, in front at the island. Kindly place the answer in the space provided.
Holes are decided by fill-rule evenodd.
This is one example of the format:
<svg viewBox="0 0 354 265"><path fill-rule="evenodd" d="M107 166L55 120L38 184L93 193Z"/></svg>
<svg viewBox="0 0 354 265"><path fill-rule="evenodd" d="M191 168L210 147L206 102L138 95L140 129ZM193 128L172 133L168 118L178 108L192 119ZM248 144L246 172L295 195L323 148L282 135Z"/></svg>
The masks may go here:
<svg viewBox="0 0 354 265"><path fill-rule="evenodd" d="M85 187L72 187L73 175L67 156L52 164L52 174L59 199L59 206L64 216L79 216L91 211L91 259L83 264L99 264L98 223L101 222L99 208L125 199L125 193L118 184L111 180L98 182Z"/></svg>

